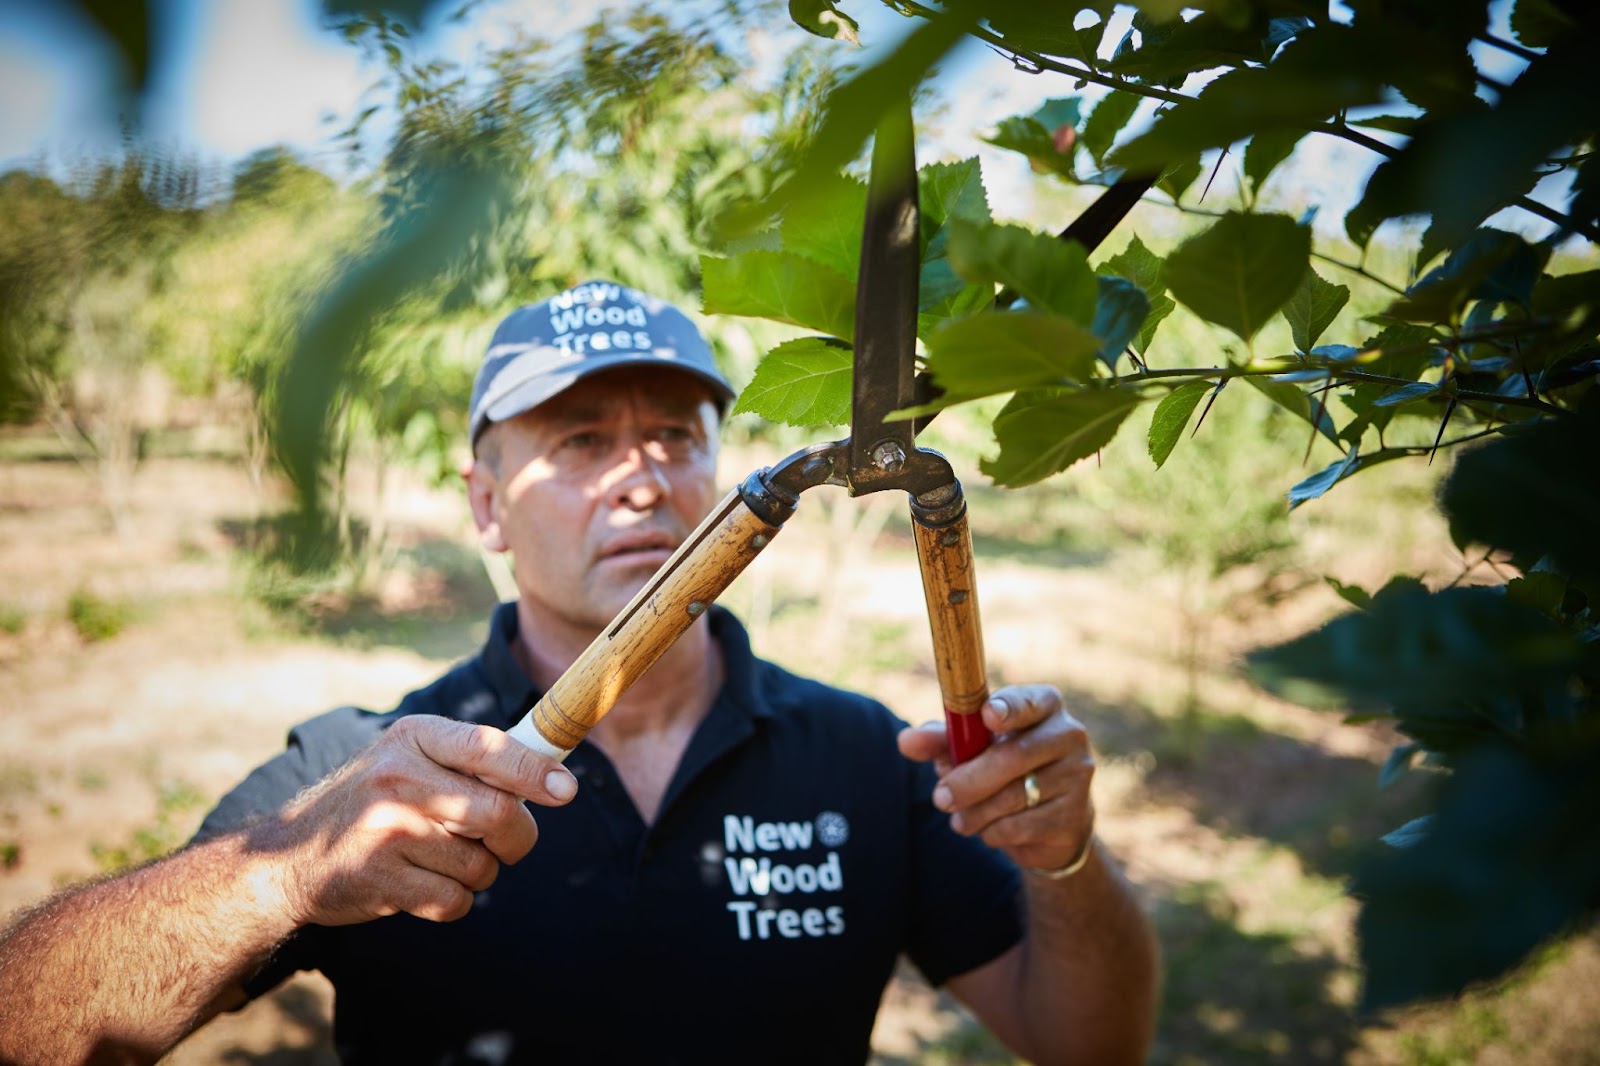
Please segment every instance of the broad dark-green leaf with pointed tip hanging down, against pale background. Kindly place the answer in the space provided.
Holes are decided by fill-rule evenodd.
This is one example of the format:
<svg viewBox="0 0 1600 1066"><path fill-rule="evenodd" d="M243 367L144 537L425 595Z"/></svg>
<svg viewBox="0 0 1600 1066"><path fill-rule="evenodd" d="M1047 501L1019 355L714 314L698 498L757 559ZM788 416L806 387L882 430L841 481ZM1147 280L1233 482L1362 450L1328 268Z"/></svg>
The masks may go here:
<svg viewBox="0 0 1600 1066"><path fill-rule="evenodd" d="M1310 230L1288 214L1224 214L1166 256L1166 288L1192 312L1250 341L1310 266Z"/></svg>

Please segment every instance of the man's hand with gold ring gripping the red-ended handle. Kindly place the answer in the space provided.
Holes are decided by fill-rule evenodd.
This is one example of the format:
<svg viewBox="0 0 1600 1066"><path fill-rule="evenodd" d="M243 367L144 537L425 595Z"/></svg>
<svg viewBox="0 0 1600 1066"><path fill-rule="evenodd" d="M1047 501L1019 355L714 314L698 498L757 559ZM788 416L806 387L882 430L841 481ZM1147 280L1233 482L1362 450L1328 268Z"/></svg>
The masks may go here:
<svg viewBox="0 0 1600 1066"><path fill-rule="evenodd" d="M950 765L942 720L901 730L901 754L938 767L933 804L957 832L981 837L1024 868L1067 866L1094 832L1088 733L1051 685L1000 688L982 715L994 744L960 767Z"/></svg>

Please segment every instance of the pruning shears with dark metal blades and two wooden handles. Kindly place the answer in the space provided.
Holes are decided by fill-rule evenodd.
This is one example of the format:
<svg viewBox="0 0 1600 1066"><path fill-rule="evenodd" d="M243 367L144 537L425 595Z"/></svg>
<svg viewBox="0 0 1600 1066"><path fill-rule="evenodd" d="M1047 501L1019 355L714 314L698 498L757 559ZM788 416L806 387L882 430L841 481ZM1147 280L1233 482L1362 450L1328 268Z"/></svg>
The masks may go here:
<svg viewBox="0 0 1600 1066"><path fill-rule="evenodd" d="M1147 179L1112 186L1061 237L1093 248L1149 186ZM989 699L989 680L966 496L950 463L917 447L917 432L930 419L890 419L939 392L915 365L920 269L917 163L910 104L904 101L883 118L872 144L850 435L802 448L746 477L509 730L512 736L565 759L771 543L803 491L840 485L851 496L902 490L910 498L950 760L965 762L989 746L992 736L979 714ZM997 296L1000 306L1011 301L1006 291Z"/></svg>

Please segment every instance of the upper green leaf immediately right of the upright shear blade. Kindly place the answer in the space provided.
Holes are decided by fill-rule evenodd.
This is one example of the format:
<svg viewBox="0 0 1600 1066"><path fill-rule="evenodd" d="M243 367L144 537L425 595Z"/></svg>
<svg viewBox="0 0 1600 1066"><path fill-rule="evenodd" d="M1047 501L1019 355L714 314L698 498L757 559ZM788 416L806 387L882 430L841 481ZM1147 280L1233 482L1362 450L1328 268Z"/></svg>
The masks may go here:
<svg viewBox="0 0 1600 1066"><path fill-rule="evenodd" d="M1094 319L1099 295L1083 246L1021 226L952 222L950 264L970 282L1014 288L1027 303L1078 325Z"/></svg>

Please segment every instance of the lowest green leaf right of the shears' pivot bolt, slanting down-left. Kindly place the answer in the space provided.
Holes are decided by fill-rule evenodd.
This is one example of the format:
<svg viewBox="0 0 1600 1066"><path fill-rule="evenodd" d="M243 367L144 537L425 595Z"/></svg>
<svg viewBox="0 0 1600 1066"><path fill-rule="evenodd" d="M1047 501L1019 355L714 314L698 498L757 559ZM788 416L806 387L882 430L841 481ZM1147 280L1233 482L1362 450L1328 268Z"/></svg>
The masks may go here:
<svg viewBox="0 0 1600 1066"><path fill-rule="evenodd" d="M995 416L1000 453L979 469L1016 488L1059 474L1110 443L1139 397L1133 389L1037 389Z"/></svg>

